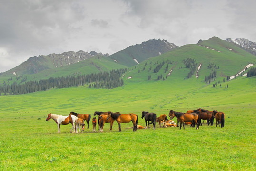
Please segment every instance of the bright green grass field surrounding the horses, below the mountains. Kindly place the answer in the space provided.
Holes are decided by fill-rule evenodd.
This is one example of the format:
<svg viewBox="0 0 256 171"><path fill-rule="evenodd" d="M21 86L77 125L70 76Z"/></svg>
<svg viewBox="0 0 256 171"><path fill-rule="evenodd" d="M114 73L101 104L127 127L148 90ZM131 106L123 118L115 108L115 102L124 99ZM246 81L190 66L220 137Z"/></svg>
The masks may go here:
<svg viewBox="0 0 256 171"><path fill-rule="evenodd" d="M145 74L146 76L146 74ZM134 77L136 78L136 77ZM139 79L138 79L139 80ZM0 170L89 171L254 171L256 109L255 78L237 77L213 88L196 79L146 81L125 79L123 87L51 89L25 95L0 96ZM138 82L138 83L136 83ZM228 88L225 88L228 84ZM191 86L190 86L191 85ZM226 114L225 127L203 126L137 130L132 123L105 123L104 132L69 133L71 124L46 122L47 114L70 111L92 114L141 111L167 114L204 108ZM177 122L177 119L174 118ZM206 122L205 122L206 123ZM97 125L98 126L98 125Z"/></svg>

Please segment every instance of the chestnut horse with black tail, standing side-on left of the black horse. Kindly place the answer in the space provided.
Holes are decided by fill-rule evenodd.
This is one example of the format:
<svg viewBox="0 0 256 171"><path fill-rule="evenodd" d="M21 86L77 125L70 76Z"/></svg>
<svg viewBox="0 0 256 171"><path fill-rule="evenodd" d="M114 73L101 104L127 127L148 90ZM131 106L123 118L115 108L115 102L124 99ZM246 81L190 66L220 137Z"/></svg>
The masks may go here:
<svg viewBox="0 0 256 171"><path fill-rule="evenodd" d="M113 118L118 122L119 131L121 131L121 123L129 123L132 121L133 123L133 130L137 131L137 124L138 124L138 115L130 113L130 114L120 114L119 112L113 113L110 112L108 114L107 120Z"/></svg>

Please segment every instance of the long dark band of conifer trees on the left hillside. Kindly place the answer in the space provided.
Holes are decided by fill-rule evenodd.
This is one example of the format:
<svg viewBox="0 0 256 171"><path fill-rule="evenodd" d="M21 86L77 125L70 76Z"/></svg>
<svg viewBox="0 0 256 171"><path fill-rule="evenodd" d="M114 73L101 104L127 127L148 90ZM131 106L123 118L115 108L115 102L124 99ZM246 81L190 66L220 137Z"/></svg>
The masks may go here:
<svg viewBox="0 0 256 171"><path fill-rule="evenodd" d="M17 82L7 85L5 82L0 86L0 95L20 95L36 91L45 91L51 88L68 88L89 84L89 88L116 88L123 86L122 75L127 69L114 69L100 73L78 76L50 77L39 81L27 81L24 84Z"/></svg>

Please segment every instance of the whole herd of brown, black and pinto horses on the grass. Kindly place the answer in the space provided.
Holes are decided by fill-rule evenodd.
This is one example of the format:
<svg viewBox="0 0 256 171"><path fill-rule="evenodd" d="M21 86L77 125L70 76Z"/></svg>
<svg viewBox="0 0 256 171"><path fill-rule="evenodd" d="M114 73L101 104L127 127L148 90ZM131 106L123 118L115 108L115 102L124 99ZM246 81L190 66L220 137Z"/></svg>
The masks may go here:
<svg viewBox="0 0 256 171"><path fill-rule="evenodd" d="M208 111L204 109L197 109L197 110L189 110L186 113L183 112L176 112L174 110L170 110L169 117L170 120L167 119L167 115L162 114L159 117L157 117L157 114L151 112L142 111L141 113L141 119L145 119L146 126L143 127L141 125L138 125L138 115L129 113L129 114L121 114L119 112L98 112L95 111L93 116L98 115L98 130L100 132L103 132L103 127L105 123L110 123L110 130L112 130L112 126L114 121L118 123L119 131L121 131L121 123L129 123L132 121L133 123L133 131L137 131L137 129L150 129L149 125L153 124L153 129L156 129L156 122L159 123L159 126L161 126L161 123L163 123L163 127L179 127L180 129L183 125L183 129L185 129L184 125L191 125L191 127L195 127L196 129L199 129L199 126L202 126L202 120L207 121L207 125L213 125L214 118L216 120L216 127L217 124L221 126L221 128L224 127L225 123L225 114L223 112L218 112L216 110ZM177 125L172 119L176 117L177 118ZM75 112L70 112L67 116L57 115L57 114L51 114L49 113L46 121L49 121L50 119L53 119L58 126L58 133L60 133L60 125L67 125L69 123L72 124L72 129L70 130L70 133L80 133L80 129L82 128L81 133L83 133L85 129L85 122L87 123L87 129L89 128L89 123L91 119L90 114L78 114ZM97 125L97 119L94 117L92 119L92 125L93 125L93 132L96 132L96 125ZM79 128L79 131L78 131Z"/></svg>

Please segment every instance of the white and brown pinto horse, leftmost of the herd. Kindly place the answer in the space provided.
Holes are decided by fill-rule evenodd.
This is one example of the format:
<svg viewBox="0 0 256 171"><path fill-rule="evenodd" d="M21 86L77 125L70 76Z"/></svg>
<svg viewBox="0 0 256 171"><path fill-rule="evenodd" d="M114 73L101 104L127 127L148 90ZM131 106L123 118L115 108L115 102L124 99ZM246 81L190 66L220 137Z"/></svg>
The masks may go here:
<svg viewBox="0 0 256 171"><path fill-rule="evenodd" d="M57 125L58 125L58 133L60 133L60 125L67 125L69 123L72 124L72 129L70 130L70 133L72 133L72 130L74 130L73 132L75 132L75 122L77 121L78 117L74 116L74 115L69 115L69 116L62 116L62 115L58 115L58 114L51 114L49 113L47 115L46 121L49 121L50 119L53 119Z"/></svg>

